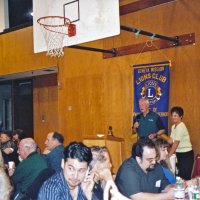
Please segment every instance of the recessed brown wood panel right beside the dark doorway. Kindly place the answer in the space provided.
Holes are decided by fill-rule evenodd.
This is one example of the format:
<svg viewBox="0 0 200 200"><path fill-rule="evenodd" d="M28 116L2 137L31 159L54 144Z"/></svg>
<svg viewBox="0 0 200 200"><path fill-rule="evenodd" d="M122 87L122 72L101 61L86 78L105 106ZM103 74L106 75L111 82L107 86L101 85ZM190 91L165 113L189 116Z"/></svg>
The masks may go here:
<svg viewBox="0 0 200 200"><path fill-rule="evenodd" d="M47 133L58 130L57 74L33 79L34 138L41 150Z"/></svg>

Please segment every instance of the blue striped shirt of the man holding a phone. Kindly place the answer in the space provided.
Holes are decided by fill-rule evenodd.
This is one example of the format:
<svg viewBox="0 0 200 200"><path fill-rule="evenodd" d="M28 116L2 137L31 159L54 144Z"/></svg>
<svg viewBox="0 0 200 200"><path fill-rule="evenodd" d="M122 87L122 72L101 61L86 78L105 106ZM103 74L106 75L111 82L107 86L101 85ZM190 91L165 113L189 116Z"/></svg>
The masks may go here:
<svg viewBox="0 0 200 200"><path fill-rule="evenodd" d="M77 199L87 200L80 186L78 187ZM44 182L39 191L38 200L73 200L62 172L53 175Z"/></svg>

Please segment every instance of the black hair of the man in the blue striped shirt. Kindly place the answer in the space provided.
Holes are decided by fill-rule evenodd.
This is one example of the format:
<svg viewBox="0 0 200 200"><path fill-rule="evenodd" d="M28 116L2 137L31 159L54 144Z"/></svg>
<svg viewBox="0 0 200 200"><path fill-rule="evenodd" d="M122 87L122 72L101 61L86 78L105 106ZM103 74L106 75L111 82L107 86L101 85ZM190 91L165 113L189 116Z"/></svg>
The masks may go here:
<svg viewBox="0 0 200 200"><path fill-rule="evenodd" d="M89 165L92 161L91 149L81 142L71 142L64 150L64 159L78 159L79 162L87 162Z"/></svg>

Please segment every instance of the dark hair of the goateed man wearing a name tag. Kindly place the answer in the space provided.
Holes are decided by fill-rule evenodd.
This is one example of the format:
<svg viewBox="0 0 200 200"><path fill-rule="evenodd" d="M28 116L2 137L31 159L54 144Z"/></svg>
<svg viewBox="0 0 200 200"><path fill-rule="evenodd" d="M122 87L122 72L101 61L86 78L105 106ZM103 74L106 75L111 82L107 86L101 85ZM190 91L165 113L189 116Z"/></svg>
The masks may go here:
<svg viewBox="0 0 200 200"><path fill-rule="evenodd" d="M142 158L144 147L149 147L150 149L156 149L155 144L152 140L150 140L149 138L142 138L139 139L135 144L133 144L132 157L136 158L137 156Z"/></svg>

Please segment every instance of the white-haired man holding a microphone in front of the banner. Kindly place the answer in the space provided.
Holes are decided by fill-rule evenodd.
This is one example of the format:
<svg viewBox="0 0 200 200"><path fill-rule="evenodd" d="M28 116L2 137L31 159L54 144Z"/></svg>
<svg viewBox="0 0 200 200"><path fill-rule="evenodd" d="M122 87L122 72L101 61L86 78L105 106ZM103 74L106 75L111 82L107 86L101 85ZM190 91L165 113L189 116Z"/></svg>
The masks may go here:
<svg viewBox="0 0 200 200"><path fill-rule="evenodd" d="M148 99L140 99L139 107L141 113L134 119L133 130L139 137L149 137L153 139L165 133L164 125L160 116L151 111Z"/></svg>

